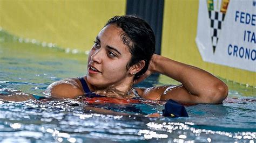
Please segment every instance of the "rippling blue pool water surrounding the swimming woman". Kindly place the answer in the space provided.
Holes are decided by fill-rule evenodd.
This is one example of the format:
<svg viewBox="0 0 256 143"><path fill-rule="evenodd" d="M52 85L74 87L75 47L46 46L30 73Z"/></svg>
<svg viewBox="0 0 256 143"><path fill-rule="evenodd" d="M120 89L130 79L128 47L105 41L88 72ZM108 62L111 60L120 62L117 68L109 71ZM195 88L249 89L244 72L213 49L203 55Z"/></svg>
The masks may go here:
<svg viewBox="0 0 256 143"><path fill-rule="evenodd" d="M93 44L93 43L92 43ZM54 81L82 76L86 54L64 51L54 44L21 39L0 31L0 94L13 90L44 96ZM225 81L225 80L224 80ZM71 99L0 101L0 141L3 142L254 142L256 89L227 82L223 104L186 106L188 118L149 118L165 102L110 106L121 116L90 112L86 102ZM152 75L138 87L176 84ZM133 110L138 109L138 110Z"/></svg>

